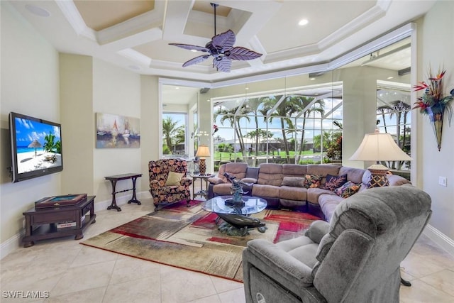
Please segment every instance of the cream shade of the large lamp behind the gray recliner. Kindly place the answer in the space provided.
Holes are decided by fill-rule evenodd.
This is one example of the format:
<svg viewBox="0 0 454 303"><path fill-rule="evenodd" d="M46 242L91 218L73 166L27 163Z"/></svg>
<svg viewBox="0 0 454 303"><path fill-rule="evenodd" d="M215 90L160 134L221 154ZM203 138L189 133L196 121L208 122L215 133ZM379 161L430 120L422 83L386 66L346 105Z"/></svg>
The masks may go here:
<svg viewBox="0 0 454 303"><path fill-rule="evenodd" d="M397 161L412 159L397 146L389 133L366 133L360 147L349 160Z"/></svg>

